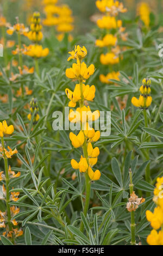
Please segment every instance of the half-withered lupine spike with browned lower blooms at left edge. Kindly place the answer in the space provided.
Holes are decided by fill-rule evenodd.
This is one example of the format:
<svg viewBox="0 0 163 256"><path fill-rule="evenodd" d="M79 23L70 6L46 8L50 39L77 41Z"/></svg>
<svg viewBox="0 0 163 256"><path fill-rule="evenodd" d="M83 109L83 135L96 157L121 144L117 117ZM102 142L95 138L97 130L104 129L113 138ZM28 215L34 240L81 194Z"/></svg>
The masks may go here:
<svg viewBox="0 0 163 256"><path fill-rule="evenodd" d="M14 226L18 225L18 222L14 219L14 216L18 214L20 209L17 206L10 206L10 202L14 201L16 202L18 200L18 196L20 192L9 192L9 181L12 178L18 178L21 173L17 172L15 173L12 171L11 167L8 167L8 159L11 159L12 155L17 154L17 150L12 150L9 146L8 149L5 149L4 147L4 135L11 135L14 132L14 126L13 125L7 125L7 122L4 120L2 123L0 122L0 137L1 137L1 145L0 145L0 151L1 151L1 157L3 157L4 160L4 168L5 173L2 171L0 172L0 181L3 182L2 184L2 192L0 199L4 200L6 204L6 211L0 211L0 228L3 228L3 236L10 237L12 241L17 236L21 236L23 234L22 229L14 228Z"/></svg>

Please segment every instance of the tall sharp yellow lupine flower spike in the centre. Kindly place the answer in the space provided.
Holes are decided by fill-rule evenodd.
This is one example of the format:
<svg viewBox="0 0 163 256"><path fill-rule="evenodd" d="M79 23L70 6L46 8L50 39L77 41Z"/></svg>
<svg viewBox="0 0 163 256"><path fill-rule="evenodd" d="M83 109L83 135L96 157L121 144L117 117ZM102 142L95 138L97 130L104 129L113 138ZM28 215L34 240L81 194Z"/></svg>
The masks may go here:
<svg viewBox="0 0 163 256"><path fill-rule="evenodd" d="M87 172L91 180L98 180L101 176L99 170L93 172L92 167L97 163L97 157L99 155L98 147L92 147L92 142L96 142L100 137L100 132L90 127L89 121L95 121L99 118L99 111L91 112L91 109L87 101L92 101L95 97L95 86L85 85L85 81L93 75L95 72L95 66L91 64L88 68L83 62L83 58L87 54L86 48L79 45L74 48L74 51L69 52L70 59L76 59L77 63L72 64L72 68L66 69L66 76L73 80L78 80L78 84L74 88L74 92L66 88L65 92L70 99L68 106L75 107L79 102L79 107L76 111L70 109L69 120L71 123L80 124L82 126L78 135L70 132L70 140L74 148L83 148L83 155L80 157L80 161L74 159L71 160L71 166L73 169L79 169L79 171Z"/></svg>

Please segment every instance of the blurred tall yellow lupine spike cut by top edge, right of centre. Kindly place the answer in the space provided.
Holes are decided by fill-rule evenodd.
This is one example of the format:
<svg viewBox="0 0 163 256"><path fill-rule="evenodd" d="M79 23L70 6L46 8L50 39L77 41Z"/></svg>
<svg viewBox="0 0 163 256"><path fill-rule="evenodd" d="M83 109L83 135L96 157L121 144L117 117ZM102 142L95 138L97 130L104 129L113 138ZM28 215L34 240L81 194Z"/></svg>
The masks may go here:
<svg viewBox="0 0 163 256"><path fill-rule="evenodd" d="M107 75L101 74L99 79L102 83L109 83L110 79L119 80L120 72L112 71L112 65L118 64L121 59L121 48L118 46L118 38L127 40L127 33L122 27L122 20L117 19L118 13L126 13L123 4L114 0L98 0L97 8L103 13L97 20L97 26L102 29L102 38L96 40L96 46L106 49L106 53L100 56L100 62L109 67ZM103 36L104 35L104 36Z"/></svg>

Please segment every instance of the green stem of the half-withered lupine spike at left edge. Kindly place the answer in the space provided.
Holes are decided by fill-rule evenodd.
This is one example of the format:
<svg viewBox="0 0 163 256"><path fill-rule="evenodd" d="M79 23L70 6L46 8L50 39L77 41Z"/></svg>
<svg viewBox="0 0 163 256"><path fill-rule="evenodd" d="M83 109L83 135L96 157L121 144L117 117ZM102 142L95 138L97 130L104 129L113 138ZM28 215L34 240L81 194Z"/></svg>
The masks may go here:
<svg viewBox="0 0 163 256"><path fill-rule="evenodd" d="M9 168L8 168L8 159L7 156L5 155L4 151L4 139L1 137L1 142L2 142L2 148L3 148L3 160L4 160L4 168L5 168L5 188L6 188L6 208L7 208L7 216L8 216L8 226L9 226L9 231L12 231L12 223L11 223L11 211L10 211L10 193L9 193ZM13 240L13 237L12 237Z"/></svg>

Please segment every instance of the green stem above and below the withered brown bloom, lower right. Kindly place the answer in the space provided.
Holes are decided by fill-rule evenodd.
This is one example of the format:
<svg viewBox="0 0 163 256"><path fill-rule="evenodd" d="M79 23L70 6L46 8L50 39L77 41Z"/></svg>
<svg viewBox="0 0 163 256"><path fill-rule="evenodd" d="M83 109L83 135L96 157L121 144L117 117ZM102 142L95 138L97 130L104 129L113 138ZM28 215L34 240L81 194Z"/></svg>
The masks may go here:
<svg viewBox="0 0 163 256"><path fill-rule="evenodd" d="M133 184L133 178L132 178L132 172L131 169L129 170L129 176L130 176L130 194L133 193L134 184ZM135 245L135 213L134 211L131 211L131 245Z"/></svg>

